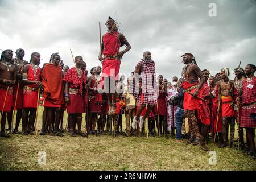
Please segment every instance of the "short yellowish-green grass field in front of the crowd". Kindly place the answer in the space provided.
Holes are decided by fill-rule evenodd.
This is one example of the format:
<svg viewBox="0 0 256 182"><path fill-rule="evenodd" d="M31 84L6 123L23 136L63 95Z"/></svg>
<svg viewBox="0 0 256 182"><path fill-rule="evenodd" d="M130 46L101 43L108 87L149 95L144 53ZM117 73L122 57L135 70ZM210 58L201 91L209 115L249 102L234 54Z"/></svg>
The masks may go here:
<svg viewBox="0 0 256 182"><path fill-rule="evenodd" d="M39 129L42 126L42 110L40 107ZM64 127L65 121L67 114L64 114ZM218 148L212 141L208 147L216 151L216 165L209 164L208 151L201 150L199 146L186 146L185 140L184 143L174 143L174 138L89 135L87 139L71 137L68 133L64 137L13 135L11 138L0 138L0 169L256 170L256 160L237 149ZM39 151L46 152L46 165L38 164Z"/></svg>

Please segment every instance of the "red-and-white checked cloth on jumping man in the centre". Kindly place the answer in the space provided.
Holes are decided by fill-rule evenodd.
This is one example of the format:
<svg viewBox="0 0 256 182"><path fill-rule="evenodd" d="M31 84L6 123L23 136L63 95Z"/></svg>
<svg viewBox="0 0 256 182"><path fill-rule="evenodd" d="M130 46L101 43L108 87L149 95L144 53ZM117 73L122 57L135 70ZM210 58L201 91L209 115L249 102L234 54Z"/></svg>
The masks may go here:
<svg viewBox="0 0 256 182"><path fill-rule="evenodd" d="M156 84L155 62L153 60L141 60L135 68L138 68L140 65L142 65L139 77L142 81L143 102L144 104L156 104L156 100L158 98L156 94L158 93L158 84ZM141 102L138 85L133 85L133 94L134 97Z"/></svg>

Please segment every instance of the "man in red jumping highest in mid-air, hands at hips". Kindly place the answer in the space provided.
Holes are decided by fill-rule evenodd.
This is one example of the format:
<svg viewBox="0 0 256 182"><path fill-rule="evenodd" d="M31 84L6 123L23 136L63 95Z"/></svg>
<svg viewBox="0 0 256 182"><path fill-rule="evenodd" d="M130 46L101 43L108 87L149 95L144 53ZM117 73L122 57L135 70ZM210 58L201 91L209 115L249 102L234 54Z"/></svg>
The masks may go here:
<svg viewBox="0 0 256 182"><path fill-rule="evenodd" d="M108 32L102 36L101 51L98 59L102 63L102 81L105 82L104 89L109 102L108 114L114 114L117 109L115 82L119 80L118 73L122 57L131 49L131 46L125 36L118 32L118 24L114 19L109 17L106 27ZM124 44L126 48L123 51L119 51Z"/></svg>

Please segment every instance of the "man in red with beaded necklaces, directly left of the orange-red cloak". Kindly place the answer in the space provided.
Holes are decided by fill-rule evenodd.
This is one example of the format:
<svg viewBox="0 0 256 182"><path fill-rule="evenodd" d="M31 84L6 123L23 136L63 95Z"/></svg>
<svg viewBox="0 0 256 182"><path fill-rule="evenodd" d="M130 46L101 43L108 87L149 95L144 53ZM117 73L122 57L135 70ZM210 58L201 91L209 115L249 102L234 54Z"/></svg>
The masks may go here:
<svg viewBox="0 0 256 182"><path fill-rule="evenodd" d="M23 113L22 113L22 135L34 134L32 125L36 117L36 108L38 101L38 88L42 86L40 82L41 56L38 52L31 54L30 64L24 65L23 80Z"/></svg>

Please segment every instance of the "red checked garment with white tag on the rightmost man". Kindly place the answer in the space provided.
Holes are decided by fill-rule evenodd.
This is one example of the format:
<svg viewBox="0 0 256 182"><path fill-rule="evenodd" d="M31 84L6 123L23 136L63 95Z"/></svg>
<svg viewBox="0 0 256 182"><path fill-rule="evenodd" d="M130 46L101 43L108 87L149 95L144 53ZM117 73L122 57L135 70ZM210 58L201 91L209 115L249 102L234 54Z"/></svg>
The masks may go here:
<svg viewBox="0 0 256 182"><path fill-rule="evenodd" d="M253 85L253 88L250 89L249 87L247 87L249 84ZM242 89L243 104L256 102L256 77L254 77L250 82L247 82L247 79L243 80ZM256 128L256 119L250 118L251 113L256 113L256 104L242 107L241 127Z"/></svg>

